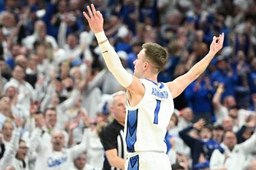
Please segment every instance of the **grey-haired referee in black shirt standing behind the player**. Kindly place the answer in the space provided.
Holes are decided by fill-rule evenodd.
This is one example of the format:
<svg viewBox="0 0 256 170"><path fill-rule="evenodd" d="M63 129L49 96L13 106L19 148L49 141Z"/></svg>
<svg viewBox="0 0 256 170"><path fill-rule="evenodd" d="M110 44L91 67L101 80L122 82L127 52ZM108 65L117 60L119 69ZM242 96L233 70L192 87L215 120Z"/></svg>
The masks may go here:
<svg viewBox="0 0 256 170"><path fill-rule="evenodd" d="M106 125L100 134L100 141L105 150L103 170L120 170L124 169L124 160L126 159L124 137L126 93L119 91L112 94L108 104L114 120Z"/></svg>

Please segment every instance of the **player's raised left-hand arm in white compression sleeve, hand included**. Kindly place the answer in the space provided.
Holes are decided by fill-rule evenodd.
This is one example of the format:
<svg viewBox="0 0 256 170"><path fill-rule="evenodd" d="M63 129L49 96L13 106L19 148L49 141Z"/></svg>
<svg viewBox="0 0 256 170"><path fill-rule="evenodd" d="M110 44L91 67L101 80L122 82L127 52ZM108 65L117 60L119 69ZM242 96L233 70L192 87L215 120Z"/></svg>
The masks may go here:
<svg viewBox="0 0 256 170"><path fill-rule="evenodd" d="M114 48L109 44L108 38L103 31L103 17L100 11L96 11L95 6L92 4L91 8L87 6L87 11L89 15L84 12L84 17L86 17L89 22L90 29L95 33L97 42L99 43L100 51L105 60L106 66L109 71L115 76L117 81L129 89L129 91L141 91L144 93L144 86L141 84L138 78L130 75L126 69L121 64L120 58L115 52Z"/></svg>

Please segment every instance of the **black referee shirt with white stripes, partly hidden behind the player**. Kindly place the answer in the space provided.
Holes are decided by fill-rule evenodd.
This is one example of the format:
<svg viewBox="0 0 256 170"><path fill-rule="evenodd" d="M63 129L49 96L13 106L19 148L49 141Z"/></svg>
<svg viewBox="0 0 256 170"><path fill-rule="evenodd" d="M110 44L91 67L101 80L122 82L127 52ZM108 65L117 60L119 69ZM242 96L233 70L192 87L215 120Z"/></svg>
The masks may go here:
<svg viewBox="0 0 256 170"><path fill-rule="evenodd" d="M125 159L126 141L124 137L124 126L120 125L117 120L114 120L103 128L102 133L100 134L100 141L105 151L117 149L118 157ZM109 165L106 155L104 157L103 170L121 170Z"/></svg>

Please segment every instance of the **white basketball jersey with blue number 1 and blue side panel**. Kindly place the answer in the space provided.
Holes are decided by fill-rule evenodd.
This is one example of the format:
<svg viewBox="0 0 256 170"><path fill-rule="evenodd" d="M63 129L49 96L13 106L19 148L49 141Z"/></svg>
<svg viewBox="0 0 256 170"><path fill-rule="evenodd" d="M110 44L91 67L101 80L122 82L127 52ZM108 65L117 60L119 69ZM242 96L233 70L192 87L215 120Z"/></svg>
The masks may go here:
<svg viewBox="0 0 256 170"><path fill-rule="evenodd" d="M126 102L127 151L159 151L166 153L166 127L172 116L173 98L166 84L140 79L145 86L145 94L136 106Z"/></svg>

